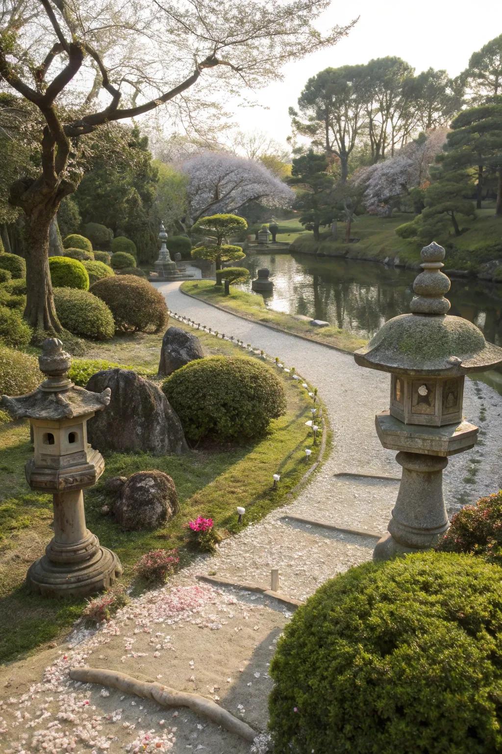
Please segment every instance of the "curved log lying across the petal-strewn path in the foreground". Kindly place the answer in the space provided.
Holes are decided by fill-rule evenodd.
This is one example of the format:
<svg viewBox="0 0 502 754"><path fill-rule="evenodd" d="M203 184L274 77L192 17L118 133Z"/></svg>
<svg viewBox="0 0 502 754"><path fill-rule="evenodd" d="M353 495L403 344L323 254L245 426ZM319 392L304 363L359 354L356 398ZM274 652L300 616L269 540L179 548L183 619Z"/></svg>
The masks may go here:
<svg viewBox="0 0 502 754"><path fill-rule="evenodd" d="M119 691L125 691L126 694L135 694L138 697L151 699L161 706L186 706L192 712L207 717L216 725L222 725L230 733L236 733L251 743L258 735L258 732L254 731L244 720L239 720L216 702L201 697L199 694L175 691L174 688L169 688L169 686L164 686L161 683L138 681L138 679L126 676L125 673L118 673L116 670L101 670L94 667L72 667L70 678L83 683L99 683L103 686L118 688Z"/></svg>

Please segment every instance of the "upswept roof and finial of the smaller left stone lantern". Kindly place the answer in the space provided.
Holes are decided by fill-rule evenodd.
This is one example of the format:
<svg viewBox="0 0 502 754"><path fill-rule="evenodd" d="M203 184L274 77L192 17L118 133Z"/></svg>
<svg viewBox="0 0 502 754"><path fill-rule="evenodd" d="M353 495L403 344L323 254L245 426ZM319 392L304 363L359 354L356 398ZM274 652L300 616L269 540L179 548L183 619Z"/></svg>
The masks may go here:
<svg viewBox="0 0 502 754"><path fill-rule="evenodd" d="M60 340L47 338L43 342L38 363L47 379L36 390L15 398L2 395L0 406L14 418L60 421L102 411L110 403L110 388L102 393L92 393L68 379L66 374L71 358L62 350Z"/></svg>

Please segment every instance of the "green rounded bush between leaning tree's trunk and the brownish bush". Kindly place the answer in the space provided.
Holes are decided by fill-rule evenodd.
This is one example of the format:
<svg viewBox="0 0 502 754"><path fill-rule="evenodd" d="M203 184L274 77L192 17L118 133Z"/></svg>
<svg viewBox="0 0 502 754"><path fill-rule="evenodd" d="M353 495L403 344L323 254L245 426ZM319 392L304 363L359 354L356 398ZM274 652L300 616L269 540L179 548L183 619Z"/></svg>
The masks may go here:
<svg viewBox="0 0 502 754"><path fill-rule="evenodd" d="M106 340L115 332L110 309L87 290L56 288L54 305L59 322L74 335L94 340Z"/></svg>

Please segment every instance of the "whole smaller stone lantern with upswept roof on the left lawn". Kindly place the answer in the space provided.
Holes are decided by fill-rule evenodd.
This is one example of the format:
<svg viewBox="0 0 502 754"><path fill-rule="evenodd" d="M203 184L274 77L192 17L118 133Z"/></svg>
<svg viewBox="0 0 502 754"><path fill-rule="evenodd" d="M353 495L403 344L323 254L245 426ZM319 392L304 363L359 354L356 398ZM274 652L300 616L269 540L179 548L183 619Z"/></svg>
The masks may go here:
<svg viewBox="0 0 502 754"><path fill-rule="evenodd" d="M53 494L54 536L26 581L44 596L87 596L110 587L122 573L115 553L87 529L82 493L105 468L101 453L87 443L87 421L108 406L110 389L99 394L74 385L67 377L71 359L56 338L44 341L38 362L47 379L28 395L0 400L32 426L35 456L25 466L29 486Z"/></svg>

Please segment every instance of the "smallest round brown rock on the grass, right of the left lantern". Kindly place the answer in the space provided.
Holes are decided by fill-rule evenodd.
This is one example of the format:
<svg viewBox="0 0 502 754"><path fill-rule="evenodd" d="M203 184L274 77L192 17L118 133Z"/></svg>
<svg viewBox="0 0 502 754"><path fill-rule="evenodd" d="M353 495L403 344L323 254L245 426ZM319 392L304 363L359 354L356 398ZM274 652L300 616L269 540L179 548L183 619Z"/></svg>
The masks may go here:
<svg viewBox="0 0 502 754"><path fill-rule="evenodd" d="M163 471L138 471L121 480L113 502L115 520L123 529L157 529L178 513L175 483Z"/></svg>

